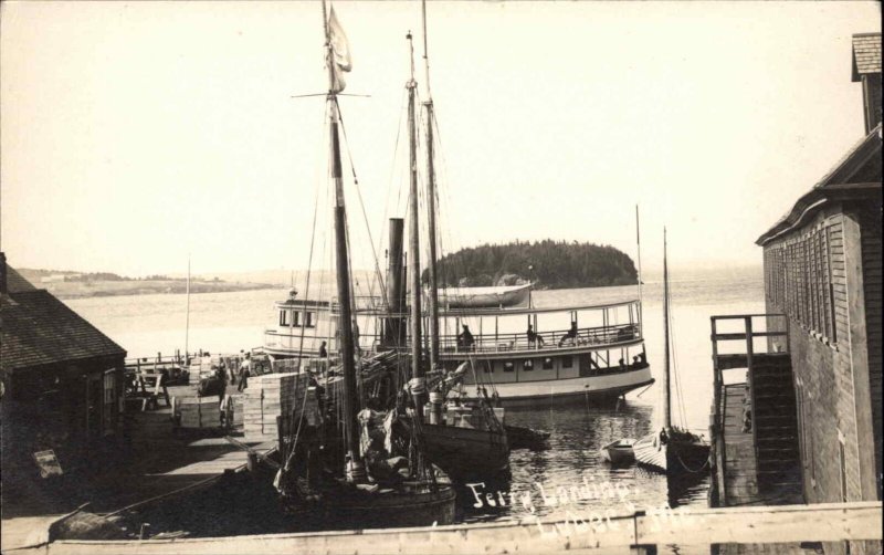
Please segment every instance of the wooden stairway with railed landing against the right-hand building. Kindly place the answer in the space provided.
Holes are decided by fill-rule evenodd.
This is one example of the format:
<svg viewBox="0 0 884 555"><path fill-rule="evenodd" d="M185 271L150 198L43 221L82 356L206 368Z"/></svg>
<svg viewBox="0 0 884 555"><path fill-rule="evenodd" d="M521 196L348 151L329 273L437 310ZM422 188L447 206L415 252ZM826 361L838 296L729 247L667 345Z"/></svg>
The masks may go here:
<svg viewBox="0 0 884 555"><path fill-rule="evenodd" d="M764 325L757 325L759 318ZM722 333L727 324L741 329ZM717 506L803 502L788 326L785 314L712 317ZM723 342L739 342L741 348L723 348ZM725 384L724 371L739 368L746 369L746 381Z"/></svg>

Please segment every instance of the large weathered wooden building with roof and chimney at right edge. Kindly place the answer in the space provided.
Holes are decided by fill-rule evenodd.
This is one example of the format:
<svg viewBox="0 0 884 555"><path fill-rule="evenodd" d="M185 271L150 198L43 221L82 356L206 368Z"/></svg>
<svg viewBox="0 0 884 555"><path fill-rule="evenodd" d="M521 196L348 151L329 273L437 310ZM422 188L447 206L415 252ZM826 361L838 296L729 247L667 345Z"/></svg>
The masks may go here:
<svg viewBox="0 0 884 555"><path fill-rule="evenodd" d="M757 240L767 312L790 320L808 503L882 499L880 33L853 36L853 81L865 136Z"/></svg>

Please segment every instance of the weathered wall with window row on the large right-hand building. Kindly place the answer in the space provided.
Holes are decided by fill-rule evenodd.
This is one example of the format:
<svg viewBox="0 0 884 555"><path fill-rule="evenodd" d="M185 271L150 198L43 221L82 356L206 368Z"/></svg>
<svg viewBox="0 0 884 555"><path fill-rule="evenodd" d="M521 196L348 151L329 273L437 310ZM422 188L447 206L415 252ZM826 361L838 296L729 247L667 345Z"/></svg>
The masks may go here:
<svg viewBox="0 0 884 555"><path fill-rule="evenodd" d="M881 227L869 203L822 202L765 242L767 312L790 320L806 499L881 499Z"/></svg>

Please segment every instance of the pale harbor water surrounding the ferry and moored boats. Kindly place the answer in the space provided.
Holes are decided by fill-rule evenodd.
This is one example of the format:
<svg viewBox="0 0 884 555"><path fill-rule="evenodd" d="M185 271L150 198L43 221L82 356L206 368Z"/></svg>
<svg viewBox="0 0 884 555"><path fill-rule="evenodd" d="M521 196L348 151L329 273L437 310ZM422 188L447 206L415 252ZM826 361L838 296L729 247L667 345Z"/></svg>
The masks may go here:
<svg viewBox="0 0 884 555"><path fill-rule="evenodd" d="M673 422L707 433L713 380L709 316L764 312L761 275L713 272L676 279L670 287L677 370L672 387ZM662 289L661 283L649 283L643 289L645 346L657 379L663 370ZM191 295L190 349L233 353L260 345L264 327L272 325L276 316L273 302L286 293L281 287ZM634 286L539 291L534 301L537 306L587 305L632 299L635 294ZM85 299L67 304L126 348L129 356L183 349L183 295ZM634 465L611 468L600 459L601 446L623 437L641 437L659 426L659 399L660 387L653 386L632 391L617 409L573 405L509 411L508 423L549 431L550 449L514 451L512 477L460 492L460 519L476 522L529 514L566 515L573 509L622 514L663 505L706 506L707 478L670 491L660 474ZM697 475L707 473L704 470Z"/></svg>

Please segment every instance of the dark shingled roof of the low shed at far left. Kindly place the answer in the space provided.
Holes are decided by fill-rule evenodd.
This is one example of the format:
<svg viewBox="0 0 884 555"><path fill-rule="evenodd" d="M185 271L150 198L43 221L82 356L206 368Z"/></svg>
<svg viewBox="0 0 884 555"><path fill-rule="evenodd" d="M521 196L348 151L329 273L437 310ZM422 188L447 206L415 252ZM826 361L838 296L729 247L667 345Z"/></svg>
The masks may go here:
<svg viewBox="0 0 884 555"><path fill-rule="evenodd" d="M4 373L93 357L124 357L126 350L49 291L0 296L0 369Z"/></svg>

